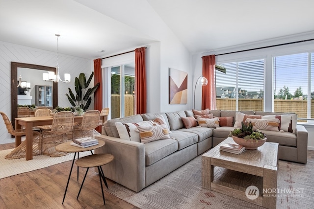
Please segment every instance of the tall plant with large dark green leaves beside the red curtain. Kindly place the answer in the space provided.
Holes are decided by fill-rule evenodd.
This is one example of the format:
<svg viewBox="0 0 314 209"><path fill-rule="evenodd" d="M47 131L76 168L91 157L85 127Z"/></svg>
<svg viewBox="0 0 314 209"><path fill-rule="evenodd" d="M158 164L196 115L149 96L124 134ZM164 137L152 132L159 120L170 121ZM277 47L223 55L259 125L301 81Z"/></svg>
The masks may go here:
<svg viewBox="0 0 314 209"><path fill-rule="evenodd" d="M92 101L91 94L94 93L97 88L100 86L100 83L97 83L93 88L88 88L92 78L94 76L94 72L89 76L86 81L86 77L84 73L80 73L78 77L75 78L75 92L77 95L75 96L72 90L69 88L69 94L65 94L71 105L73 107L81 107L83 111L86 111Z"/></svg>

